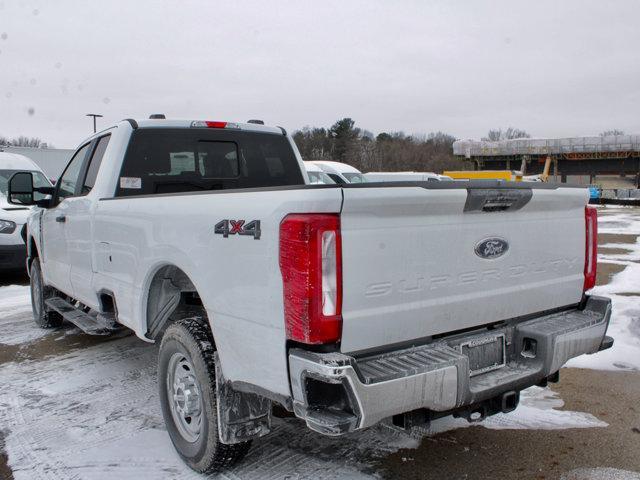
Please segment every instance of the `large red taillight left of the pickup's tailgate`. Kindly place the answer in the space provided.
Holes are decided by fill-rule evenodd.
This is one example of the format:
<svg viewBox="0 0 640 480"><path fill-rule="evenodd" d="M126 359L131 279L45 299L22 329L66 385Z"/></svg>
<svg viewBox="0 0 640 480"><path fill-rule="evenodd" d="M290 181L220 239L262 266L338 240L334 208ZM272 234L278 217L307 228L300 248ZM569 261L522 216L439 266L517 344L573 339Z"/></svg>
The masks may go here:
<svg viewBox="0 0 640 480"><path fill-rule="evenodd" d="M342 334L342 241L337 214L287 215L280 223L287 338L335 343Z"/></svg>

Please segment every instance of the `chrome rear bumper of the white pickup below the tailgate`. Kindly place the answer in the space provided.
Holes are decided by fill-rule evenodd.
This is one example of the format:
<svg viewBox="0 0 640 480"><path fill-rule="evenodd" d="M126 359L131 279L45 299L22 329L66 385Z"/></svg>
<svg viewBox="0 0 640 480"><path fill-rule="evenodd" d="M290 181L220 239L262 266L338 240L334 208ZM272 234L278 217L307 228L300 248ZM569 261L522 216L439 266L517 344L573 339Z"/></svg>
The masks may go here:
<svg viewBox="0 0 640 480"><path fill-rule="evenodd" d="M611 300L592 296L583 309L373 356L292 349L294 412L312 430L340 435L414 410L462 410L536 385L569 359L610 347L603 343L610 316ZM505 365L471 376L461 345L501 335Z"/></svg>

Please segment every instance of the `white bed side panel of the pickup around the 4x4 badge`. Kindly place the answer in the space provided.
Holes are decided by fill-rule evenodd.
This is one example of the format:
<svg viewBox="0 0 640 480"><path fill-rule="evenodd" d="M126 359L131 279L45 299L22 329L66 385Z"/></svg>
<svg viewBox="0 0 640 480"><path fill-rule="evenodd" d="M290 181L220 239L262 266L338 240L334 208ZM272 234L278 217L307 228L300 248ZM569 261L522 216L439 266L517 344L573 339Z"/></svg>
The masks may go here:
<svg viewBox="0 0 640 480"><path fill-rule="evenodd" d="M144 336L153 275L182 269L207 310L227 379L289 394L279 225L288 213L339 212L339 188L102 200L95 213L95 289L116 294L120 320ZM220 220L260 220L261 236L214 234Z"/></svg>

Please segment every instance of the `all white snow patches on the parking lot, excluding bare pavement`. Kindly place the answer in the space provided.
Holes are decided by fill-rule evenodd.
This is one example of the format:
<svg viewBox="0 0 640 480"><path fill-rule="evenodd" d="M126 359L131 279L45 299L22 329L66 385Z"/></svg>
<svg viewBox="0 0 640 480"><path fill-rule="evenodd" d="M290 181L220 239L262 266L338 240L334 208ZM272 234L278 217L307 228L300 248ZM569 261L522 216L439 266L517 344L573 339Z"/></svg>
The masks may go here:
<svg viewBox="0 0 640 480"><path fill-rule="evenodd" d="M640 235L640 217L612 211L601 231ZM626 253L603 255L626 268L596 293L613 297L610 334L615 348L572 362L602 369L640 368L640 245L616 244ZM0 343L28 347L79 336L75 329L44 331L31 320L28 287L0 287ZM0 346L0 348L2 348ZM202 478L184 466L165 431L156 386L156 347L135 337L117 338L88 348L0 364L0 444L4 437L16 480ZM487 419L490 429L569 429L606 427L579 411L559 410L563 401L548 388L522 393L515 412ZM411 435L382 425L342 438L307 430L296 419L275 419L275 432L254 442L248 457L216 478L328 479L371 478L373 462L401 448L417 447L424 435L467 427L463 420L441 419L428 431ZM618 477L612 469L571 472L573 478ZM578 475L591 476L578 476ZM624 472L623 472L624 474ZM609 475L609 476L607 476Z"/></svg>

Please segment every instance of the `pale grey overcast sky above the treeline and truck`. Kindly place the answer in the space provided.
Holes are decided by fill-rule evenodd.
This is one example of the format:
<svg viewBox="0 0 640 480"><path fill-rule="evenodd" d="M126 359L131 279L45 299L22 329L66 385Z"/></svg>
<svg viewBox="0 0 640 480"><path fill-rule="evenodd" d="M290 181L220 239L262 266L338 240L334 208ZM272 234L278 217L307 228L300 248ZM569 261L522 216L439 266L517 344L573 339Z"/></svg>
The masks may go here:
<svg viewBox="0 0 640 480"><path fill-rule="evenodd" d="M0 135L151 113L374 133L640 133L640 1L0 0Z"/></svg>

